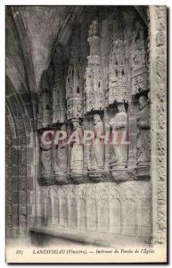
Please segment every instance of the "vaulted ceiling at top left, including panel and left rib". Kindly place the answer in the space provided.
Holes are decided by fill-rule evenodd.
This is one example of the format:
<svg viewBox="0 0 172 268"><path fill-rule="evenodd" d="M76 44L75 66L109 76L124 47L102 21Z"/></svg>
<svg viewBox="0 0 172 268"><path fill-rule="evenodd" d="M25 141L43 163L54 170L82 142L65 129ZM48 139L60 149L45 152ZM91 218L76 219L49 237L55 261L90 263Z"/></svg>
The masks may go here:
<svg viewBox="0 0 172 268"><path fill-rule="evenodd" d="M24 71L30 64L36 82L36 88L30 90L38 90L41 74L47 68L56 39L72 8L71 6L7 7L6 72L13 83L26 85ZM24 63L22 57L24 55L26 57L27 53L29 61L25 58Z"/></svg>

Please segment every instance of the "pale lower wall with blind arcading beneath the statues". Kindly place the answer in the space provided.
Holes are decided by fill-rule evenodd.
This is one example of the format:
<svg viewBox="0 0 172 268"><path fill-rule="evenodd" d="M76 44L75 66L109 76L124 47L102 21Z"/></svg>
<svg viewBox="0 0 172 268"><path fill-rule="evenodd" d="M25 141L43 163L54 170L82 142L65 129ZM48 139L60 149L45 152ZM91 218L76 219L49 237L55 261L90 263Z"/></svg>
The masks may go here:
<svg viewBox="0 0 172 268"><path fill-rule="evenodd" d="M149 182L127 181L41 189L40 223L53 230L150 238Z"/></svg>

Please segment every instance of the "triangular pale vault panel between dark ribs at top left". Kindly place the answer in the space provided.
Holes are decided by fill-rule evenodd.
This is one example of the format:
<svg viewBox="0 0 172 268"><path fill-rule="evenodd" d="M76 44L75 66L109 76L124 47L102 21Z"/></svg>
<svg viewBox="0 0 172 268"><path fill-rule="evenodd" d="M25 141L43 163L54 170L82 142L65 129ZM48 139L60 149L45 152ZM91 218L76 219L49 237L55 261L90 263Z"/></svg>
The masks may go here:
<svg viewBox="0 0 172 268"><path fill-rule="evenodd" d="M38 85L70 6L20 6Z"/></svg>

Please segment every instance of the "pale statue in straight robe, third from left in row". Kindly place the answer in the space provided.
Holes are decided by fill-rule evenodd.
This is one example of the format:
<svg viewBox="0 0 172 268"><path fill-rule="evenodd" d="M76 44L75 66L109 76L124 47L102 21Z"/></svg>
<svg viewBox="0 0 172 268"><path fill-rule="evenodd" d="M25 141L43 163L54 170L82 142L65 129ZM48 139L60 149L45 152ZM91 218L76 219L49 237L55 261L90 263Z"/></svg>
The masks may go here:
<svg viewBox="0 0 172 268"><path fill-rule="evenodd" d="M78 132L78 136L82 135L82 128L78 121L73 121L73 129ZM74 143L71 149L70 157L70 175L72 178L81 176L83 173L83 145L82 143Z"/></svg>

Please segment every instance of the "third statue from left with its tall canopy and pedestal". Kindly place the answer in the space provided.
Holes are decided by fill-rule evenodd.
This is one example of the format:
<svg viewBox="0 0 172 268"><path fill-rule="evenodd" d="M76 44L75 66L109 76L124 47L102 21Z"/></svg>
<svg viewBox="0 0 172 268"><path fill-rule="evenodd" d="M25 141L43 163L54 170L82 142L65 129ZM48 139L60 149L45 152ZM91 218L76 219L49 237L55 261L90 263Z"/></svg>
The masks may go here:
<svg viewBox="0 0 172 268"><path fill-rule="evenodd" d="M70 63L66 77L67 118L73 131L82 135L83 120L83 71L80 63L80 26L77 25L71 40ZM77 142L69 146L70 178L77 183L83 182L84 147Z"/></svg>

